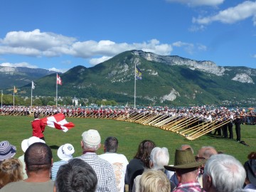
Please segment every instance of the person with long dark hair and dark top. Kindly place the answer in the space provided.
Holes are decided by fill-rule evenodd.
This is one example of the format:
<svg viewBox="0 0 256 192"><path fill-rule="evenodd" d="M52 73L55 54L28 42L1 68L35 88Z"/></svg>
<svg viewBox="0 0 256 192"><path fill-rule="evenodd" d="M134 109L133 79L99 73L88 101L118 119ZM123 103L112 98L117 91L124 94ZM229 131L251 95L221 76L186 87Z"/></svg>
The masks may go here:
<svg viewBox="0 0 256 192"><path fill-rule="evenodd" d="M129 192L132 192L134 178L141 175L144 169L149 169L149 156L156 144L150 140L144 140L139 144L137 154L127 165L125 183L129 185Z"/></svg>

